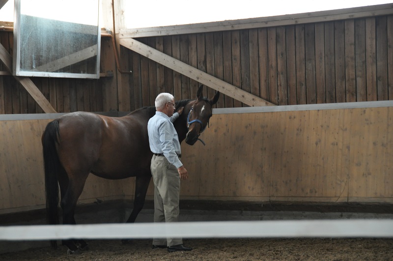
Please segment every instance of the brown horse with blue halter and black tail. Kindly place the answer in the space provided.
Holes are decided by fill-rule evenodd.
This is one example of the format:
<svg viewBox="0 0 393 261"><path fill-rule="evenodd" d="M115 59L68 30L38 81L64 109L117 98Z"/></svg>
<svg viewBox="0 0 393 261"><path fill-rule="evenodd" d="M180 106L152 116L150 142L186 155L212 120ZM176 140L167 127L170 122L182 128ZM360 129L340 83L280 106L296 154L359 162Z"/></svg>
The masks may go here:
<svg viewBox="0 0 393 261"><path fill-rule="evenodd" d="M194 145L212 116L213 99L203 97L203 86L197 100L176 101L176 111L184 107L174 121L180 143ZM127 223L134 223L145 202L151 179L147 122L155 115L154 106L137 109L126 116L110 117L89 112L74 112L49 122L42 135L47 221L59 224L58 203L63 224L76 224L75 207L87 176L91 173L106 179L136 177L134 206ZM123 243L126 243L123 239ZM88 245L83 239L62 241L69 254L80 254ZM56 240L51 245L57 248Z"/></svg>

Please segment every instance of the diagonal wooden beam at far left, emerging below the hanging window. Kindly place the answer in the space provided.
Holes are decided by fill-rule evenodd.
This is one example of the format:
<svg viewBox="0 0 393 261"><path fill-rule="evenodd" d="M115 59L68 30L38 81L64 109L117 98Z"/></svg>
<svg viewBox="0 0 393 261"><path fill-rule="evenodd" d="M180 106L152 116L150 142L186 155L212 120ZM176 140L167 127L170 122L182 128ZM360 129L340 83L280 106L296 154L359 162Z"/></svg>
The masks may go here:
<svg viewBox="0 0 393 261"><path fill-rule="evenodd" d="M12 73L12 57L5 50L4 46L0 44L0 60L4 63L7 70ZM14 76L15 79L28 91L33 97L35 102L41 107L45 113L56 113L56 110L52 107L49 101L41 93L41 91L34 85L34 83L28 77Z"/></svg>

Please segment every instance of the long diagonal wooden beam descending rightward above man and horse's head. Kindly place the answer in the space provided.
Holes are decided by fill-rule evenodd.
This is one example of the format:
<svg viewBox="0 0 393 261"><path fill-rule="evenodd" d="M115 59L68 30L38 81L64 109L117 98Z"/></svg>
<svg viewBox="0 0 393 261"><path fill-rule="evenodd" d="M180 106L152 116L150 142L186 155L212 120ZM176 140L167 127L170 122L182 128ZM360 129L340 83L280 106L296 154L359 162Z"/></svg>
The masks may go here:
<svg viewBox="0 0 393 261"><path fill-rule="evenodd" d="M179 61L178 59L172 58L133 38L120 39L120 44L134 52L139 53L142 56L152 59L164 66L167 66L168 68L179 72L201 84L218 90L231 98L239 100L244 104L247 104L249 106L275 106L273 103L259 98L238 87L230 85L223 80L220 80L214 76L211 76L210 74L202 72L201 70L198 70L197 68L188 65L187 63Z"/></svg>

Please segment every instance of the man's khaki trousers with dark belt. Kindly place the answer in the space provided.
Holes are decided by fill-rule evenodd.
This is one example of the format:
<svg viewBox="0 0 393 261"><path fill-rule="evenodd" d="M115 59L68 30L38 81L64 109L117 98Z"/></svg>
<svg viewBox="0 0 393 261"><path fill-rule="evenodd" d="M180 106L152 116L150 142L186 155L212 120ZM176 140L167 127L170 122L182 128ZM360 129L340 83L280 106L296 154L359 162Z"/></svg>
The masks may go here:
<svg viewBox="0 0 393 261"><path fill-rule="evenodd" d="M165 156L153 155L150 164L154 181L154 222L177 222L179 217L180 176ZM182 238L153 238L153 245L183 244Z"/></svg>

